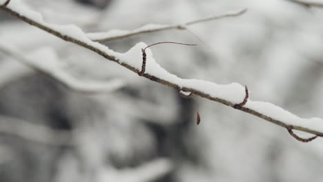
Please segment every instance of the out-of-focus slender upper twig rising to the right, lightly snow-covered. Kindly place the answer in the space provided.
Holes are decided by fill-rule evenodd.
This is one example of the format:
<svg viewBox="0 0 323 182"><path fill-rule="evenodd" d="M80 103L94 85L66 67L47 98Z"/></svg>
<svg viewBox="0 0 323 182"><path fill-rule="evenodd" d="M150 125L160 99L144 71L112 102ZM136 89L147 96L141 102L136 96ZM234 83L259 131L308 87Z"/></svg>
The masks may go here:
<svg viewBox="0 0 323 182"><path fill-rule="evenodd" d="M157 28L144 28L144 27L141 27L141 28L138 28L136 30L126 32L124 34L119 34L117 36L114 35L114 36L110 36L110 37L107 36L107 37L104 37L104 38L96 38L97 34L102 34L102 32L99 32L99 33L88 33L88 37L90 39L92 39L92 41L105 42L105 41L112 41L112 40L115 40L115 39L123 39L123 38L130 37L130 36L133 36L133 35L136 35L136 34L159 32L161 30L170 30L170 29L186 30L186 26L192 26L192 25L197 24L197 23L202 23L202 22L206 22L206 21L212 21L212 20L221 19L221 18L224 18L224 17L237 17L237 16L239 16L241 14L244 14L244 12L246 12L246 8L244 8L242 10L239 10L239 11L226 12L224 14L215 15L215 16L212 16L212 17L196 19L196 20L193 20L193 21L185 22L185 23L177 23L175 25L170 25L170 26L159 26Z"/></svg>

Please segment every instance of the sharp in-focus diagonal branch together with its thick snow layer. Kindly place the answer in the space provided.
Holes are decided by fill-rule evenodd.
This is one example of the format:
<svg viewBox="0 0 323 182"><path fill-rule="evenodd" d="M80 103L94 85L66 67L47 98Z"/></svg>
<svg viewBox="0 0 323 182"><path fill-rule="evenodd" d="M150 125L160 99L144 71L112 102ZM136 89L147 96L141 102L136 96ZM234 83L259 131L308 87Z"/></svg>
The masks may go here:
<svg viewBox="0 0 323 182"><path fill-rule="evenodd" d="M29 10L26 6L19 3L18 0L12 1L7 6L1 6L0 9L30 23L32 26L36 26L53 34L56 37L80 45L88 50L92 50L102 57L114 61L137 74L141 70L141 49L146 48L147 45L145 43L137 43L137 45L133 46L128 52L119 53L110 50L106 45L90 40L86 34L76 26L57 26L46 23L43 21L40 14ZM281 127L288 129L288 131L300 130L316 136L323 136L323 119L303 119L272 103L252 101L246 97L246 89L239 83L219 85L210 81L179 78L175 74L170 74L162 68L153 58L153 53L150 49L146 50L146 71L142 74L142 77L167 85L170 88L176 88L177 90L182 90L186 93L190 92L199 97L217 101L224 105L228 105L231 108L253 114L256 117L280 125ZM247 99L247 101L244 101L245 99ZM235 106L237 103L239 104L241 102L244 103L244 105L240 104L241 107Z"/></svg>

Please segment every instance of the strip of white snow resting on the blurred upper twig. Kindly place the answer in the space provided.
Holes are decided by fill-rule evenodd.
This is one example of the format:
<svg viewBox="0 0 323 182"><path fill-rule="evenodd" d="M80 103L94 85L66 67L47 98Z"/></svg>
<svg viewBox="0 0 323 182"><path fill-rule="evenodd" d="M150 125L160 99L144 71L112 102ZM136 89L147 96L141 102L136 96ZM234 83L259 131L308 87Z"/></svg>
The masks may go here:
<svg viewBox="0 0 323 182"><path fill-rule="evenodd" d="M142 26L141 28L137 28L135 30L109 30L108 32L93 32L87 33L86 36L91 40L99 40L99 39L110 39L112 37L122 37L126 36L127 34L136 34L138 32L146 32L146 31L153 31L159 30L162 28L166 28L169 25L159 25L159 24L147 24Z"/></svg>

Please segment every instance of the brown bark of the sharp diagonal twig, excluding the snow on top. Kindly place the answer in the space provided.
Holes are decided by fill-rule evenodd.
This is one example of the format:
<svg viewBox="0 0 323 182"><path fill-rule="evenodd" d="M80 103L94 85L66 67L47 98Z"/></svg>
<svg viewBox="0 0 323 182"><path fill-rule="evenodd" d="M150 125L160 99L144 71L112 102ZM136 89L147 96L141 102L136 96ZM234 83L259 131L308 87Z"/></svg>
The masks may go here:
<svg viewBox="0 0 323 182"><path fill-rule="evenodd" d="M102 57L110 60L110 61L114 61L115 63L118 63L122 66L124 66L125 68L128 68L128 70L131 70L135 73L138 74L138 72L140 72L137 68L128 65L128 63L126 62L119 62L119 59L117 59L116 57L100 50L99 48L96 48L93 45L88 45L88 43L86 43L86 41L82 41L80 39L75 39L73 37L70 37L66 34L63 34L63 32L58 32L57 30L52 30L51 28L48 28L48 26L44 26L41 23L37 23L36 21L33 21L32 19L29 19L28 17L24 17L23 15L19 14L18 12L14 12L13 10L11 10L10 8L6 8L6 7L0 7L2 10L5 10L6 12L9 12L10 14L12 14L13 16L21 19L22 21L25 21L26 23L29 23L32 26L36 26L42 30L45 30L46 32L55 35L56 37L59 37L65 41L70 41L72 43L75 43L77 45L80 45L81 47L87 48L88 50L92 50L93 52L96 52L97 54L101 55ZM155 77L152 74L144 74L143 77L146 77L147 79L150 79L151 81L155 81L157 83L161 83L163 85L167 85L170 88L178 88L180 87L180 85L177 85L177 83L172 83L170 81L166 81L164 79L160 79L158 77ZM199 97L203 97L206 99L209 99L211 101L216 101L218 103L222 103L224 105L228 105L230 107L234 107L235 103L232 103L231 101L227 101L225 99L221 99L218 97L213 97L210 94L206 94L204 92L204 90L201 89L195 89L195 88L182 88L183 90L186 90L186 92L192 92L192 94L196 94ZM315 129L310 129L310 128L306 128L300 125L290 125L287 123L284 123L283 121L280 121L278 119L274 119L273 117L269 117L268 115L262 114L260 112L257 112L256 110L250 109L250 108L246 108L246 107L242 107L239 110L246 112L248 114L252 114L256 117L260 117L261 119L264 119L266 121L269 121L271 123L274 123L275 125L280 125L283 128L287 128L288 126L293 127L293 130L300 130L302 132L308 132L311 134L315 134L317 136L322 137L323 136L323 132L320 132L319 130L315 130Z"/></svg>

